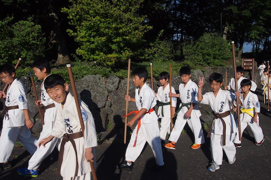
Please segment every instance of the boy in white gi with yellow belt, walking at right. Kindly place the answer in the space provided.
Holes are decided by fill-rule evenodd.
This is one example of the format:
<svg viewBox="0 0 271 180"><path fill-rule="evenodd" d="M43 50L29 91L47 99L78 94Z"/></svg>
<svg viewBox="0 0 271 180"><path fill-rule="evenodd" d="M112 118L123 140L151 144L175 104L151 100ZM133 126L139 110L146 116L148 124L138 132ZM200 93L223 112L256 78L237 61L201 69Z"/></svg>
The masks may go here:
<svg viewBox="0 0 271 180"><path fill-rule="evenodd" d="M251 81L249 79L243 79L241 81L242 94L236 92L237 100L241 106L240 114L240 126L241 126L241 135L243 134L244 129L249 126L255 137L255 145L261 146L265 141L263 130L259 125L259 116L261 106L259 103L258 96L250 92ZM239 140L239 133L237 131L237 136L234 139L235 147L240 148L241 141Z"/></svg>

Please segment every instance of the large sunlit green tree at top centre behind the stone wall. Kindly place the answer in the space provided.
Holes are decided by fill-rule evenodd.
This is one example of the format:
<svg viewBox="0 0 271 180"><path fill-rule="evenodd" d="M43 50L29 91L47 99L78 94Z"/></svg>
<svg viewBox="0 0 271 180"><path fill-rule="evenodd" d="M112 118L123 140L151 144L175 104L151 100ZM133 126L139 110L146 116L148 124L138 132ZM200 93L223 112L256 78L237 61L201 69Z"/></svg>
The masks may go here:
<svg viewBox="0 0 271 180"><path fill-rule="evenodd" d="M83 60L111 66L116 61L135 57L145 42L143 35L151 26L137 11L143 0L70 0L68 14L70 36Z"/></svg>

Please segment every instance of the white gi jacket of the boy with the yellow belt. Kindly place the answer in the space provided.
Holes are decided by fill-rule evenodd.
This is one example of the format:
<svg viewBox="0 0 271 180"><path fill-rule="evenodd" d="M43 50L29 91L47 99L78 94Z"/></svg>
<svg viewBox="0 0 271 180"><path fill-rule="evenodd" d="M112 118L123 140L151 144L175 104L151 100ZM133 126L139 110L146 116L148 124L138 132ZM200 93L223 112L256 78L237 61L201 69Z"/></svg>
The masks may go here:
<svg viewBox="0 0 271 180"><path fill-rule="evenodd" d="M254 112L260 112L261 106L259 103L258 96L252 92L249 91L248 95L243 99L243 93L240 96L241 100L241 107L245 109L251 109L254 108L254 110L249 111L251 114L254 114ZM257 115L257 119L259 119L259 116ZM251 117L247 113L240 113L240 120L243 122L253 122L253 117Z"/></svg>

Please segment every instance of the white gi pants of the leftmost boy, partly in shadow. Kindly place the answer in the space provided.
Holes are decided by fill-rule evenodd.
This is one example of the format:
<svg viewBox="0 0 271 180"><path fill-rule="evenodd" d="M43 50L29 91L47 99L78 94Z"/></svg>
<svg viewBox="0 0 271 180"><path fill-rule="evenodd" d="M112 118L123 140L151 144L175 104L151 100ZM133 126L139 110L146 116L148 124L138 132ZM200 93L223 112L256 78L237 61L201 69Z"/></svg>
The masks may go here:
<svg viewBox="0 0 271 180"><path fill-rule="evenodd" d="M16 128L3 127L0 136L0 163L8 161L17 138L30 154L34 154L37 140L26 125Z"/></svg>

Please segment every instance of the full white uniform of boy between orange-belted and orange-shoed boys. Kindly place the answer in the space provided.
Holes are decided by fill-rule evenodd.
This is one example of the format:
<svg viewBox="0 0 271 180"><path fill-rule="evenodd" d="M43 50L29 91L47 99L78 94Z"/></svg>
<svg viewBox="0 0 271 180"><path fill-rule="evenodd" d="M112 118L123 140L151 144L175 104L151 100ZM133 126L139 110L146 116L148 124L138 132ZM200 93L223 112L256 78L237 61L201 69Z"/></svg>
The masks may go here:
<svg viewBox="0 0 271 180"><path fill-rule="evenodd" d="M161 103L170 103L169 97L169 84L163 89L163 86L158 88L156 99ZM171 92L176 94L175 89L171 87ZM177 101L175 97L172 97L172 107L176 107ZM163 113L162 113L163 109ZM170 133L170 104L159 106L158 108L158 117L161 118L161 127L160 127L160 138L162 140L166 139L167 133ZM164 116L163 116L164 115Z"/></svg>

